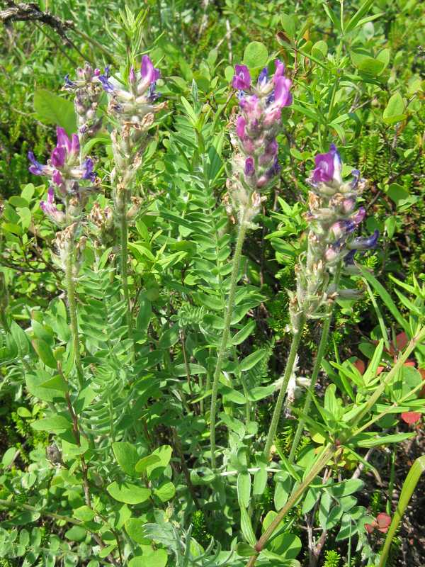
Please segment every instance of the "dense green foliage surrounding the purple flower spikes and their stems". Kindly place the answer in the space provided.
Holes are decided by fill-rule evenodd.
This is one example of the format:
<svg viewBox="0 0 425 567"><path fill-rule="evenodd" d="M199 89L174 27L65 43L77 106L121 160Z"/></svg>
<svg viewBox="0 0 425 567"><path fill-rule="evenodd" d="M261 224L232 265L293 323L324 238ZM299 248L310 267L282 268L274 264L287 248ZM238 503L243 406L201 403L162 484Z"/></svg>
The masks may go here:
<svg viewBox="0 0 425 567"><path fill-rule="evenodd" d="M0 566L245 565L328 443L334 452L256 564L300 566L306 517L314 537L324 530L328 541L341 541L339 552L325 552L324 567L372 564L382 538L368 537L364 525L385 494L351 478L353 469L385 473L366 451L411 439L414 427L400 425L399 414L425 411L425 350L408 344L419 337L425 307L421 4L161 0L147 8L42 2L74 21L67 40L31 20L0 30ZM140 199L129 219L132 332L117 215L105 247L84 214L87 242L74 274L79 380L57 227L40 210L47 187L28 173L27 152L45 163L54 125L75 130L72 94L60 91L64 75L75 77L87 60L112 64L114 79L128 77L145 52L162 69L157 86L168 107L149 130L132 188ZM282 171L242 249L212 471L210 396L237 228L226 208L237 111L229 83L234 63L254 77L276 57L293 79L294 101L278 135ZM101 189L84 198L87 213L113 206L116 181L105 99L97 111L102 129L84 152L95 159ZM344 176L356 167L368 180L364 228L380 230L380 245L361 259L361 274L341 280L363 298L335 302L309 415L301 408L323 321L305 327L299 397L286 401L291 418L280 420L266 460L289 350L287 292L307 249L305 178L332 142ZM305 432L291 463L299 417ZM357 498L369 490L366 510ZM387 565L401 545L392 538Z"/></svg>

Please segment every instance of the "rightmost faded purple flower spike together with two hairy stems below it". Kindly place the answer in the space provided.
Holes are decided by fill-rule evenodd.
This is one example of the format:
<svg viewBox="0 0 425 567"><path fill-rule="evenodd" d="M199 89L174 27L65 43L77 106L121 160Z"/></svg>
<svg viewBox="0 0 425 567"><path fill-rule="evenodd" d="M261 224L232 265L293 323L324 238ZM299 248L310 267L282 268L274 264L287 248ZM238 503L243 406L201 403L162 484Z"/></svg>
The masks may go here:
<svg viewBox="0 0 425 567"><path fill-rule="evenodd" d="M340 288L341 273L358 274L354 264L354 255L361 250L375 247L379 232L376 230L371 237L355 237L354 231L365 218L365 208L356 210L358 197L365 186L358 170L353 171L353 179L344 182L341 176L342 162L335 145L329 152L319 154L314 159L315 168L307 179L310 185L309 210L306 218L309 223L307 233L307 252L300 254L299 264L295 267L296 291L290 292L290 327L293 334L293 344L290 349L288 366L283 376L282 385L271 428L268 432L265 454L268 453L276 434L276 424L281 412L283 399L288 388L297 345L307 319L325 318L322 330L321 346L314 364L311 388L317 381L324 348L328 342L331 313L336 298L355 298L361 291ZM305 414L311 403L311 390L305 400ZM300 441L304 421L301 419L295 440L291 449L292 459Z"/></svg>

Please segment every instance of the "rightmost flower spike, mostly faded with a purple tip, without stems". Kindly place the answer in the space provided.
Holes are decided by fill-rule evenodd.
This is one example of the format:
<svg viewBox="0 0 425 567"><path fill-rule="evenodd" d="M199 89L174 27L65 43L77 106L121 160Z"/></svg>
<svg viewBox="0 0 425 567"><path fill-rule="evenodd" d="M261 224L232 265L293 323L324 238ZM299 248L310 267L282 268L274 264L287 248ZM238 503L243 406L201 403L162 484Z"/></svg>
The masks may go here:
<svg viewBox="0 0 425 567"><path fill-rule="evenodd" d="M365 186L360 172L353 170L353 180L344 183L341 157L334 145L315 158L315 168L307 179L311 186L307 221L310 223L307 252L296 266L297 290L290 294L290 316L297 330L300 315L323 316L322 309L336 296L356 297L357 290L339 290L329 284L329 274L344 269L356 273L353 257L358 250L373 248L379 237L355 237L354 231L365 218L365 208L356 210L358 196Z"/></svg>

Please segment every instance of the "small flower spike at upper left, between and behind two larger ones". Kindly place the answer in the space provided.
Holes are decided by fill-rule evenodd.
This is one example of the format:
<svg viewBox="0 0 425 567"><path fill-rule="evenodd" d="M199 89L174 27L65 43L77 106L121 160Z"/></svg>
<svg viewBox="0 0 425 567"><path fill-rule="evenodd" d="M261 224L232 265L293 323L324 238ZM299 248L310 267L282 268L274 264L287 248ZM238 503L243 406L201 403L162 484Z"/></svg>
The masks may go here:
<svg viewBox="0 0 425 567"><path fill-rule="evenodd" d="M74 107L77 113L80 139L94 135L101 128L102 118L96 116L98 103L103 93L100 69L93 69L86 63L84 68L77 69L77 79L65 77L64 89L74 93ZM105 68L103 77L109 77L109 67Z"/></svg>

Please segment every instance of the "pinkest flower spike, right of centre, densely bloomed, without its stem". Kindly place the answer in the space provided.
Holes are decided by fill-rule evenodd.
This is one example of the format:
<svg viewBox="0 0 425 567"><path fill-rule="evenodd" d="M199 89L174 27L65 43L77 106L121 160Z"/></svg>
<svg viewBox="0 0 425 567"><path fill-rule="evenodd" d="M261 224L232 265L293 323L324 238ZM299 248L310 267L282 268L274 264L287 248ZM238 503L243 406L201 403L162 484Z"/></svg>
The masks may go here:
<svg viewBox="0 0 425 567"><path fill-rule="evenodd" d="M285 77L285 66L279 60L268 77L267 69L251 82L249 69L236 65L232 86L237 89L240 114L232 135L234 146L233 178L228 181L229 196L237 210L253 208L261 202L259 192L266 188L280 171L278 142L281 111L292 102L291 81ZM240 214L240 212L239 212Z"/></svg>

